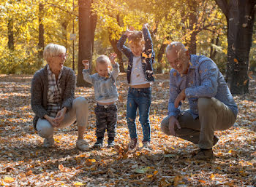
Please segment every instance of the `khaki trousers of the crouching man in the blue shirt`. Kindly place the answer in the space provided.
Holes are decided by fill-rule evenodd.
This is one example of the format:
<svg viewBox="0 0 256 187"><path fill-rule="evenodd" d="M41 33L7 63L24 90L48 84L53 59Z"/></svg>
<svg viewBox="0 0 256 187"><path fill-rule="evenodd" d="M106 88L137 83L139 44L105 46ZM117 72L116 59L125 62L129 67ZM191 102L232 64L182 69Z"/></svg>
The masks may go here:
<svg viewBox="0 0 256 187"><path fill-rule="evenodd" d="M193 119L186 111L178 115L181 130L175 128L176 135L178 138L198 144L200 148L209 149L214 143L214 131L232 127L236 116L228 106L216 98L199 98L197 106L197 119ZM161 128L162 132L170 135L168 116L162 120Z"/></svg>

